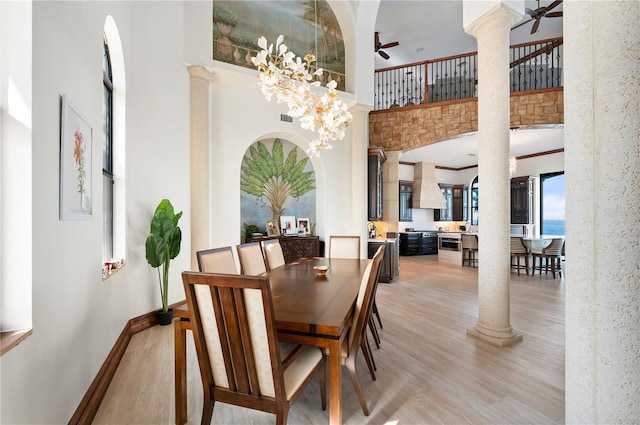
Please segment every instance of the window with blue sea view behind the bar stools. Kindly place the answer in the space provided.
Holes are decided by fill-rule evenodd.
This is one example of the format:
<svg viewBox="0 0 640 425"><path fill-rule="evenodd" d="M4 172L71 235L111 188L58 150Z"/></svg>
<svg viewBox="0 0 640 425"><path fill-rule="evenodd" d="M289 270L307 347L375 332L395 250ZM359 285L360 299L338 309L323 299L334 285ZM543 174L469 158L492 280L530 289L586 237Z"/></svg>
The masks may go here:
<svg viewBox="0 0 640 425"><path fill-rule="evenodd" d="M540 174L540 234L564 235L564 172Z"/></svg>

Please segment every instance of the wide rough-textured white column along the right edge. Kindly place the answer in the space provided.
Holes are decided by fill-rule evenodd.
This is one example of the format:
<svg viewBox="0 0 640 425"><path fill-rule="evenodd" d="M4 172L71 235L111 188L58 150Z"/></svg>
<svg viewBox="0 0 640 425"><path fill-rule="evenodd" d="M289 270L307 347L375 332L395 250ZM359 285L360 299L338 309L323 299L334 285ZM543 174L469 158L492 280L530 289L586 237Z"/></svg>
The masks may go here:
<svg viewBox="0 0 640 425"><path fill-rule="evenodd" d="M640 3L564 2L567 424L640 418Z"/></svg>

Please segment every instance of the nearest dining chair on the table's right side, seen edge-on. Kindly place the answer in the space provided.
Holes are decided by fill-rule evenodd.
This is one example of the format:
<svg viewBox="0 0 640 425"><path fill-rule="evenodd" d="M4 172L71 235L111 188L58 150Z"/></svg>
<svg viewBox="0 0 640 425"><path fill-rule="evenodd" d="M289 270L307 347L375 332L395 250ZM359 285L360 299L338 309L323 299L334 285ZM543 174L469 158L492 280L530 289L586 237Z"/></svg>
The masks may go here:
<svg viewBox="0 0 640 425"><path fill-rule="evenodd" d="M356 299L355 310L351 319L351 328L349 335L342 343L342 364L346 366L353 387L358 396L360 407L365 416L369 416L369 408L367 407L367 401L364 398L360 381L358 380L358 374L356 371L356 356L361 349L362 354L369 367L369 372L372 378L375 380L375 374L373 372L371 349L367 346L366 333L369 319L371 318L371 311L373 306L373 300L375 299L376 285L380 276L380 269L382 266L382 256L384 255L385 244L380 245L373 259L368 263L367 268L360 281L360 289L358 291L358 297ZM325 356L328 353L325 351Z"/></svg>

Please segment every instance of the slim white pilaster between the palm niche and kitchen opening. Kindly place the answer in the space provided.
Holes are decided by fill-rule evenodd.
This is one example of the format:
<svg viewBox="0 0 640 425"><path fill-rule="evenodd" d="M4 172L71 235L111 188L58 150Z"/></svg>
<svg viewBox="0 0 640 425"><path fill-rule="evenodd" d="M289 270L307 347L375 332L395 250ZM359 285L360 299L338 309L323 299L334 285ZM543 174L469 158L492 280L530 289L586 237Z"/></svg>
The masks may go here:
<svg viewBox="0 0 640 425"><path fill-rule="evenodd" d="M369 111L372 108L363 104L355 104L349 111L353 115L351 121L351 223L353 233L360 239L367 240L367 147L369 146ZM344 141L336 142L344 143ZM367 258L367 244L360 244L360 258Z"/></svg>

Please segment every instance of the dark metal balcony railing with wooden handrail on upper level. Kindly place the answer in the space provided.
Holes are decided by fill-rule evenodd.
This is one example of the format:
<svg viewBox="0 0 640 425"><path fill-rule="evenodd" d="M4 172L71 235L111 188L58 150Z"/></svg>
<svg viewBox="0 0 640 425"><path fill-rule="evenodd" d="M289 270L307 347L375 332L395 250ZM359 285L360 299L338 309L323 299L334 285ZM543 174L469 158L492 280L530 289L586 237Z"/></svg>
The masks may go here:
<svg viewBox="0 0 640 425"><path fill-rule="evenodd" d="M562 86L562 38L511 46L511 92ZM477 96L478 54L377 70L374 109L470 99Z"/></svg>

